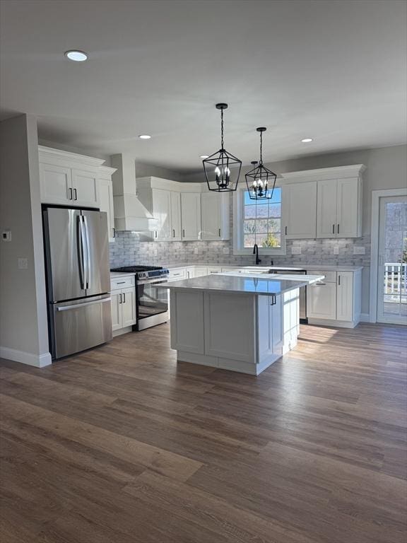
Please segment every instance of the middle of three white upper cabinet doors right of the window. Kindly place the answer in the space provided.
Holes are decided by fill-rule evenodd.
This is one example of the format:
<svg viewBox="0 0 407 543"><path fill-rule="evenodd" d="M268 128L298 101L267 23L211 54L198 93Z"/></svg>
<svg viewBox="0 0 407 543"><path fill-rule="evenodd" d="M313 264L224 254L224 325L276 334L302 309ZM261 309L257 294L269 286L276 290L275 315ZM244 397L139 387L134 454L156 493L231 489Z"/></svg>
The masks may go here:
<svg viewBox="0 0 407 543"><path fill-rule="evenodd" d="M317 238L336 238L336 180L318 181Z"/></svg>

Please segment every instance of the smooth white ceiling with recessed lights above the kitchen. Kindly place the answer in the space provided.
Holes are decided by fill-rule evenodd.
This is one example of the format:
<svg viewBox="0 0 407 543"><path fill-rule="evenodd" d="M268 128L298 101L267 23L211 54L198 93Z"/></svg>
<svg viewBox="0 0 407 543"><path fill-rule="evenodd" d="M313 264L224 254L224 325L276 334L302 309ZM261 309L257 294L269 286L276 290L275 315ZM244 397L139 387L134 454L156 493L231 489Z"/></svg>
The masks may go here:
<svg viewBox="0 0 407 543"><path fill-rule="evenodd" d="M179 172L406 142L403 0L1 1L1 115ZM69 62L66 49L90 59ZM141 141L138 134L152 134ZM311 136L312 144L300 139Z"/></svg>

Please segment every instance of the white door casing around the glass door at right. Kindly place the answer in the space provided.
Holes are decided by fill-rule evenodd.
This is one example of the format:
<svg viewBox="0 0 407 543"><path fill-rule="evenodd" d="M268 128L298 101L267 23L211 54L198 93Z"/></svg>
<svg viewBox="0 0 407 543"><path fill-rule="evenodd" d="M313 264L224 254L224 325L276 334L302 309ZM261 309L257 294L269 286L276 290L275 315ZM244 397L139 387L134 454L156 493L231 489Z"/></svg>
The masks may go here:
<svg viewBox="0 0 407 543"><path fill-rule="evenodd" d="M407 196L407 189L372 190L372 226L370 232L370 322L377 322L377 267L379 264L379 209L380 198Z"/></svg>

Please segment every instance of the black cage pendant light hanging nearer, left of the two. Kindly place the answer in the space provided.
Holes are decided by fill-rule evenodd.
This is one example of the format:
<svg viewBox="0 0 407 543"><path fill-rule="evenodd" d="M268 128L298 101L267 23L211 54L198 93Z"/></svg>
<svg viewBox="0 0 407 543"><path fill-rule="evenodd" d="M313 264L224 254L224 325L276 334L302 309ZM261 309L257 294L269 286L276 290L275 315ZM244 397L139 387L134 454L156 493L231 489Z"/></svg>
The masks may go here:
<svg viewBox="0 0 407 543"><path fill-rule="evenodd" d="M220 149L202 160L208 189L215 192L232 192L237 189L242 160L226 151L223 146L223 110L228 104L216 104L220 110Z"/></svg>

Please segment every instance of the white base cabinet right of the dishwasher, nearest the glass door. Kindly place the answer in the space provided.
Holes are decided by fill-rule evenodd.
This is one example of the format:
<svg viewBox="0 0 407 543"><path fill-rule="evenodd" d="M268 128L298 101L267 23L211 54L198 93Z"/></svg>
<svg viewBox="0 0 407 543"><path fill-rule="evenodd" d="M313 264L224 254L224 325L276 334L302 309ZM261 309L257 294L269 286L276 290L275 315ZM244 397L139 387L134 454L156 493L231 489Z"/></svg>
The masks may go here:
<svg viewBox="0 0 407 543"><path fill-rule="evenodd" d="M307 286L309 324L355 327L360 321L361 271L312 271L325 279Z"/></svg>

